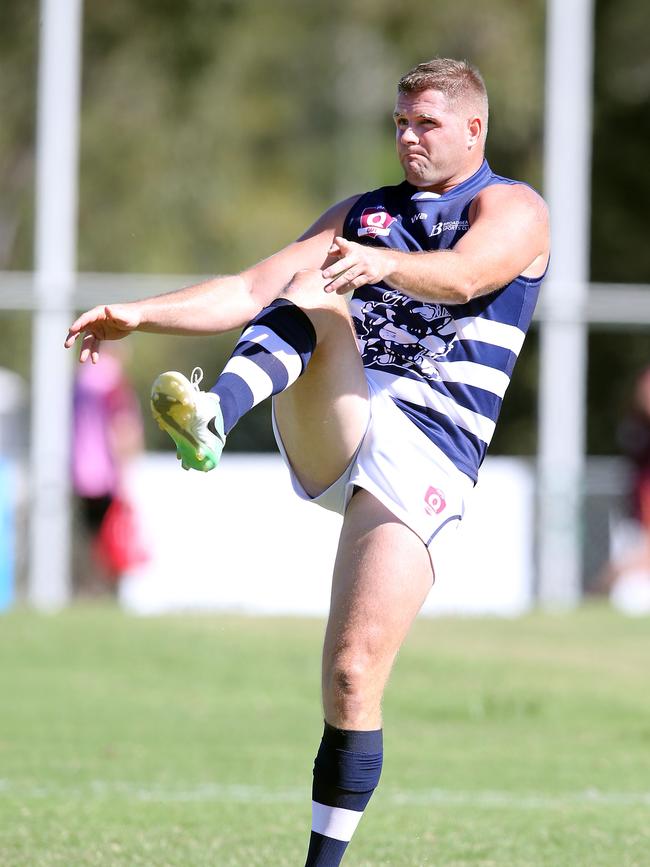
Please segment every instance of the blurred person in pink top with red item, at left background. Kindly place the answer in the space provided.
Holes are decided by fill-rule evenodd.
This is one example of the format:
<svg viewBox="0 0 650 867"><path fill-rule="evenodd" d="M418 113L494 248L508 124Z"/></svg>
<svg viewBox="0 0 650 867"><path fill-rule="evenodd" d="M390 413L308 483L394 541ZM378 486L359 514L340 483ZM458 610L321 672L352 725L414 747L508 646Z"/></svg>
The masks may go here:
<svg viewBox="0 0 650 867"><path fill-rule="evenodd" d="M72 482L78 500L77 590L115 589L145 557L128 495L128 468L142 451L140 405L124 370L124 347L113 344L92 367L81 367L73 391Z"/></svg>

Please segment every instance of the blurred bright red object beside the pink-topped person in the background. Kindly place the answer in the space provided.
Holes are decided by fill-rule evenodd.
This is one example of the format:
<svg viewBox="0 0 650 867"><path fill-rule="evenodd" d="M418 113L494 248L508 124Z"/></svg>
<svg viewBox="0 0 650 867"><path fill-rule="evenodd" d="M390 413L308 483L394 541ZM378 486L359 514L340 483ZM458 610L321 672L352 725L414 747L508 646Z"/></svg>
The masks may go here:
<svg viewBox="0 0 650 867"><path fill-rule="evenodd" d="M113 581L149 559L135 510L116 497L108 507L95 540L95 554Z"/></svg>

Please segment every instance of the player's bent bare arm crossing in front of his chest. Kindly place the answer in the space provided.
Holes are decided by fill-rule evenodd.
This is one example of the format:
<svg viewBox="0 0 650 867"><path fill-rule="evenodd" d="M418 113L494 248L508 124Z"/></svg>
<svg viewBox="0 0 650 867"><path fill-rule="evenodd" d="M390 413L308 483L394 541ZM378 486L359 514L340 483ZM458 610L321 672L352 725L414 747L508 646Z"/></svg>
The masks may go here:
<svg viewBox="0 0 650 867"><path fill-rule="evenodd" d="M323 272L330 292L349 292L383 281L412 298L462 304L505 286L519 274L540 276L548 261L548 212L522 184L482 190L470 211L470 228L450 250L403 253L337 237L338 261Z"/></svg>

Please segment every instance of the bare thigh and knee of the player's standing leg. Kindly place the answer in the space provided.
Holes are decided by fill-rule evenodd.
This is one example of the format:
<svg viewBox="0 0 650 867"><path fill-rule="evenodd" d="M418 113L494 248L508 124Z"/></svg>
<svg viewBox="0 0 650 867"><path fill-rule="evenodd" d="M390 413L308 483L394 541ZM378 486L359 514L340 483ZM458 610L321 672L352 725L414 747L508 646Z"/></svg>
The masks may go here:
<svg viewBox="0 0 650 867"><path fill-rule="evenodd" d="M422 540L358 491L343 522L323 648L323 706L331 725L381 726L393 661L432 580Z"/></svg>

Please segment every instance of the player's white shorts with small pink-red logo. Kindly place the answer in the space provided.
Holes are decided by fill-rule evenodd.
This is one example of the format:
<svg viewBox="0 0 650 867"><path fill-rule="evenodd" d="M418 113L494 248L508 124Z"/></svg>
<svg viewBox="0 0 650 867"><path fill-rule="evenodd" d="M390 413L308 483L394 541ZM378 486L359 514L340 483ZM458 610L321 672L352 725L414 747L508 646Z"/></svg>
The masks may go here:
<svg viewBox="0 0 650 867"><path fill-rule="evenodd" d="M294 491L303 500L343 515L355 487L364 488L410 527L434 562L465 513L474 482L395 405L366 372L370 397L368 426L343 474L317 497L298 481L273 413L273 431L289 469Z"/></svg>

